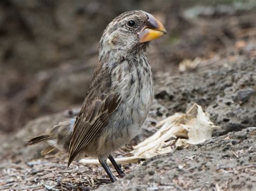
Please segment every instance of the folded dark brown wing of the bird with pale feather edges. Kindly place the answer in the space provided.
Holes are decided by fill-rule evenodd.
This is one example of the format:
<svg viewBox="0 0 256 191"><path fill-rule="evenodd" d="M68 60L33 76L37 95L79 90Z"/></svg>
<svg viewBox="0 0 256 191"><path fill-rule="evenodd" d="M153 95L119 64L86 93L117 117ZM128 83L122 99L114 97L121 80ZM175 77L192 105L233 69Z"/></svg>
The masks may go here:
<svg viewBox="0 0 256 191"><path fill-rule="evenodd" d="M102 94L93 99L90 104L86 101L77 116L71 142L69 145L69 162L92 140L98 130L102 128L111 114L118 108L120 97L114 94Z"/></svg>

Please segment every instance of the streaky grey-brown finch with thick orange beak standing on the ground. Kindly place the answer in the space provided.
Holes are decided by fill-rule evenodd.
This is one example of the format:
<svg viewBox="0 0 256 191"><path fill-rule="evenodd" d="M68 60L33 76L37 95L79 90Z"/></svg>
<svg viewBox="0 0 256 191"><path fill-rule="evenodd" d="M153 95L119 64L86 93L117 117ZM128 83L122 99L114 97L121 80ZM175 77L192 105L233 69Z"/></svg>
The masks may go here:
<svg viewBox="0 0 256 191"><path fill-rule="evenodd" d="M68 167L85 156L98 158L112 182L125 176L113 153L141 129L153 100L153 77L146 48L166 34L165 27L142 10L124 12L106 26L99 41L98 62L76 118L66 118L27 140L48 142L41 153L68 154Z"/></svg>

